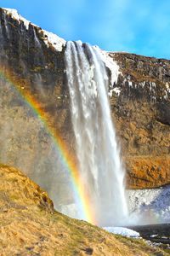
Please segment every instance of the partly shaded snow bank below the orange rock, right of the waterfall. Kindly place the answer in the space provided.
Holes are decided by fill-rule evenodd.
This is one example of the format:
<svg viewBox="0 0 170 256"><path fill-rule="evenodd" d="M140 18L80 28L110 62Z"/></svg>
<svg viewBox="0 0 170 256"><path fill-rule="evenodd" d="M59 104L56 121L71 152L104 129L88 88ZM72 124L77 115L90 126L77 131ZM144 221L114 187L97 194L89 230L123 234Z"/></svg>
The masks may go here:
<svg viewBox="0 0 170 256"><path fill-rule="evenodd" d="M170 223L170 186L129 189L127 201L132 224Z"/></svg>

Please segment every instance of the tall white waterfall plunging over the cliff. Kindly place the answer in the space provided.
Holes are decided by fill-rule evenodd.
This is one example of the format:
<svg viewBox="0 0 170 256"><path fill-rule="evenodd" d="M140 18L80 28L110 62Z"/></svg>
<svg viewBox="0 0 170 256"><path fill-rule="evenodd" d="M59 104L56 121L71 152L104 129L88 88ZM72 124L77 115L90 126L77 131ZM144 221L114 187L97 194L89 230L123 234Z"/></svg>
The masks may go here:
<svg viewBox="0 0 170 256"><path fill-rule="evenodd" d="M97 224L124 224L124 171L111 121L109 79L97 47L67 42L65 67L82 186Z"/></svg>

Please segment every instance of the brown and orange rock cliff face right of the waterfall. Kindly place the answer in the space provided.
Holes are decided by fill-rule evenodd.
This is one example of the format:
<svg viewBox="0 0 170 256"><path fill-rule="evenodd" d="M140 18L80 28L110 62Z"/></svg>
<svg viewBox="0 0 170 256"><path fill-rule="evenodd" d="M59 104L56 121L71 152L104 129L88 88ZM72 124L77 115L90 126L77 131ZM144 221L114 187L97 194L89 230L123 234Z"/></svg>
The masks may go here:
<svg viewBox="0 0 170 256"><path fill-rule="evenodd" d="M111 53L121 73L111 110L122 143L127 183L156 187L170 181L170 61Z"/></svg>

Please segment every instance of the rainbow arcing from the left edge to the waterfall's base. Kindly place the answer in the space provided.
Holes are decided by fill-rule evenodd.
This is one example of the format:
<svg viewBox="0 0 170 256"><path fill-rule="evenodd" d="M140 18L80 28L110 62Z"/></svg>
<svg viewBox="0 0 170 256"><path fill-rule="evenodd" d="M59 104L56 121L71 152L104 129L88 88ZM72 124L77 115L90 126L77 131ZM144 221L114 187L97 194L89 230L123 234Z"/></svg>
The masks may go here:
<svg viewBox="0 0 170 256"><path fill-rule="evenodd" d="M48 135L54 141L54 145L61 156L67 172L71 176L73 189L77 197L78 206L80 207L82 219L88 221L91 224L96 224L94 213L90 207L88 195L84 191L81 179L79 177L76 160L68 151L64 140L59 135L59 131L49 125L48 113L42 109L40 103L38 103L34 96L32 96L31 93L21 85L22 82L16 80L14 74L8 69L0 67L0 79L5 80L5 82L8 82L10 85L12 85L14 89L20 93L20 96L24 99L27 105L36 114L37 118L42 121L42 124L48 132Z"/></svg>

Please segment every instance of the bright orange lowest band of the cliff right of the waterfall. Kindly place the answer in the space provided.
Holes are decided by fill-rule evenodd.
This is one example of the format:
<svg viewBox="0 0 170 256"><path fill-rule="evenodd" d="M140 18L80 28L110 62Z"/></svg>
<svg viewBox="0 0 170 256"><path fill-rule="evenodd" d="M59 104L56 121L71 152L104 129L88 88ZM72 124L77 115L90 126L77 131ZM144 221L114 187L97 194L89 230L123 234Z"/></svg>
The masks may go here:
<svg viewBox="0 0 170 256"><path fill-rule="evenodd" d="M127 157L127 187L156 188L170 183L170 156Z"/></svg>

